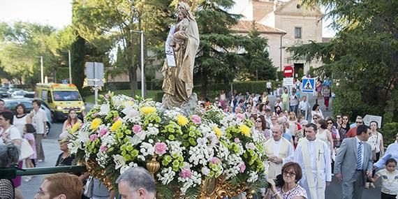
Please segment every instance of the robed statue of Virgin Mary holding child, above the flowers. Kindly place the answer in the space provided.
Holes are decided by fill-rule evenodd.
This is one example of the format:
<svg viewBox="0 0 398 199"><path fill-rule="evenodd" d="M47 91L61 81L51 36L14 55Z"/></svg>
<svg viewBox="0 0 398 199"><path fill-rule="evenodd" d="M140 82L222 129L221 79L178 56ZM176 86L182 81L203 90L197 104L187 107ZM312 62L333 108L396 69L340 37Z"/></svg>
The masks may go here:
<svg viewBox="0 0 398 199"><path fill-rule="evenodd" d="M186 13L189 23L184 36L179 38L183 41L179 45L179 50L172 50L174 56L165 60L161 70L164 76L162 86L164 91L163 107L168 109L173 107L184 108L188 103L193 103L191 101L195 101L195 103L197 101L196 94L192 94L192 89L193 66L199 47L198 24L196 24L195 17L188 4L179 2L177 8ZM170 50L167 50L167 45L168 43L166 43L166 53L170 52Z"/></svg>

